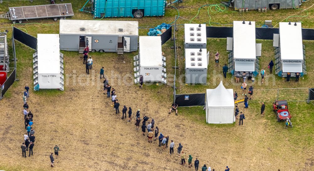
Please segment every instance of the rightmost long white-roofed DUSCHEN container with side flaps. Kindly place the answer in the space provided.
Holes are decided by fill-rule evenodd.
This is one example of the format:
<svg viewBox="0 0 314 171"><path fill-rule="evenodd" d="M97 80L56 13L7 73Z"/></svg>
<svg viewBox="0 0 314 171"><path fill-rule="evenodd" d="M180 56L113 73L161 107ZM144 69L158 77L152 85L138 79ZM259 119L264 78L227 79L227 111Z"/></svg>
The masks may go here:
<svg viewBox="0 0 314 171"><path fill-rule="evenodd" d="M305 46L302 44L302 26L300 22L280 22L279 34L273 35L275 48L275 73L286 77L291 73L306 74ZM301 74L301 75L302 75Z"/></svg>

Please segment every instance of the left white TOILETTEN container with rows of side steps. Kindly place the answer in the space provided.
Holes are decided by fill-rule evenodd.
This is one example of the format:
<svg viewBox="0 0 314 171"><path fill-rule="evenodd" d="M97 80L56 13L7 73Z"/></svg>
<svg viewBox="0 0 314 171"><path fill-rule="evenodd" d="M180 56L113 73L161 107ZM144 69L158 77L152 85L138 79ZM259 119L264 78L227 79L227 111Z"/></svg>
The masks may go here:
<svg viewBox="0 0 314 171"><path fill-rule="evenodd" d="M64 90L63 54L60 53L58 34L38 34L37 52L33 54L34 90Z"/></svg>

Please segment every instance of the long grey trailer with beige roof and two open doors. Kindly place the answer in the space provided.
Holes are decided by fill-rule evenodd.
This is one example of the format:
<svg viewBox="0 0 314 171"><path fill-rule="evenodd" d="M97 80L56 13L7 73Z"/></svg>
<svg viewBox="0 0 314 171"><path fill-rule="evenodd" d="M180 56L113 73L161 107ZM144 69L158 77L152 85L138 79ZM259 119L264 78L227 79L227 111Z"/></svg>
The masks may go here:
<svg viewBox="0 0 314 171"><path fill-rule="evenodd" d="M60 49L83 52L123 52L138 49L138 21L60 20Z"/></svg>

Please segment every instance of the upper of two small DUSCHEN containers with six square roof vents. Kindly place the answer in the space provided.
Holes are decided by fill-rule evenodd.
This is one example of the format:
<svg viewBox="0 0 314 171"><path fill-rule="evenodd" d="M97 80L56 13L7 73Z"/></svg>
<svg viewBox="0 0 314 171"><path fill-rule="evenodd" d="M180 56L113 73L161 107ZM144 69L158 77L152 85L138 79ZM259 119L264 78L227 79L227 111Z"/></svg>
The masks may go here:
<svg viewBox="0 0 314 171"><path fill-rule="evenodd" d="M206 49L206 25L184 24L184 48Z"/></svg>

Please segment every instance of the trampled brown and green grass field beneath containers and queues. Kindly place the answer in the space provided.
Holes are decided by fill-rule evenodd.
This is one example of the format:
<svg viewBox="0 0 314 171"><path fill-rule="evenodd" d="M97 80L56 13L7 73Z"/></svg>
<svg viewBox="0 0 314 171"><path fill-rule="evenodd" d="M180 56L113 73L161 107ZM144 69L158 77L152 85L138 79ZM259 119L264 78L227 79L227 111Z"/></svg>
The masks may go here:
<svg viewBox="0 0 314 171"><path fill-rule="evenodd" d="M65 0L71 2L75 16L69 19L92 19L90 14L78 12L85 1ZM0 5L1 13L5 13L8 7L48 4L47 0L34 1L33 3L3 2ZM57 3L60 3L57 0ZM184 19L178 19L177 23L189 23L197 13L198 8L207 3L214 4L219 1L211 0L186 0L175 4ZM303 3L302 8L310 7L314 2ZM193 19L196 23L209 21L207 7L200 10L198 17ZM273 25L285 17L299 12L300 10L268 10L267 13L250 11L248 13L232 12L210 13L211 25L232 26L233 20L254 20L256 25L261 26L264 20L273 20ZM232 12L232 13L231 13ZM303 21L302 27L314 28L314 8L308 9L308 17L291 18L291 21ZM171 23L175 19L177 11L166 8L164 17L144 17L142 19L114 18L113 20L137 20L139 21L139 34L145 36L149 28L161 23ZM301 13L298 15L305 15ZM41 23L29 24L29 23ZM14 25L27 30L32 36L37 33L58 33L58 22L52 19L29 20L27 25ZM56 24L56 25L50 25ZM0 19L0 29L10 30L11 22ZM24 31L25 31L24 30ZM11 36L11 31L9 32ZM183 47L183 29L176 32L177 43ZM141 109L141 116L146 114L150 119L154 118L155 125L160 132L169 135L175 142L175 151L179 142L183 145L183 151L187 156L191 154L193 160L198 157L200 166L206 164L215 170L224 170L228 165L232 170L259 171L278 170L282 171L310 171L314 170L314 112L313 105L306 102L289 102L292 122L294 127L284 129L284 123L276 122L275 115L271 110L271 102L274 100L274 91L255 91L253 101L249 109L244 110L243 103L240 111L246 114L243 126L235 124L215 125L206 124L205 111L202 107L179 108L179 115L168 115L168 108L172 102L172 82L168 85L157 86L144 85L138 89L133 85L132 78L124 77L133 73L133 56L138 52L125 53L117 56L115 53L92 53L94 64L91 74L86 75L82 64L82 56L77 52L62 51L65 62L65 91L47 90L30 91L28 103L34 113L34 128L36 142L34 156L22 158L20 145L23 142L24 125L22 114L22 91L25 85L32 87L32 54L35 52L29 47L15 41L17 61L16 81L5 97L0 102L2 119L0 125L0 170L48 170L50 169L49 154L53 147L58 144L60 156L56 159L54 170L192 170L187 166L181 166L177 155L170 156L168 149L161 150L156 141L153 144L147 142L146 136L141 131L135 130L134 113ZM262 57L260 66L267 71L270 60L273 59L272 41L257 40L262 43ZM257 77L253 84L254 89L277 89L277 88L309 88L314 84L312 75L314 63L314 42L303 41L306 46L307 75L298 83L286 82L273 75L267 75L265 84L260 84ZM11 44L11 40L9 40ZM173 41L163 45L163 52L167 58L167 74L174 74L174 52L170 48ZM227 62L225 51L225 39L208 39L207 50L210 52L208 67L208 85L189 85L176 82L177 94L203 93L208 88L215 88L220 80L223 80L227 88L233 88L240 92L240 86L233 83L230 74L227 79L222 78L221 67ZM214 66L214 52L220 52L220 65ZM177 75L184 74L183 48L179 49L177 58ZM11 56L13 56L11 54ZM111 102L102 91L102 80L99 80L98 72L101 66L109 79L109 84L116 89L120 104L131 106L133 109L133 121L131 123L120 119L121 115L114 114ZM168 80L173 78L168 77ZM252 83L249 82L248 85ZM259 92L259 93L258 93ZM287 100L299 98L293 92L282 96ZM240 95L240 93L238 93ZM258 101L266 104L266 115L261 118Z"/></svg>

